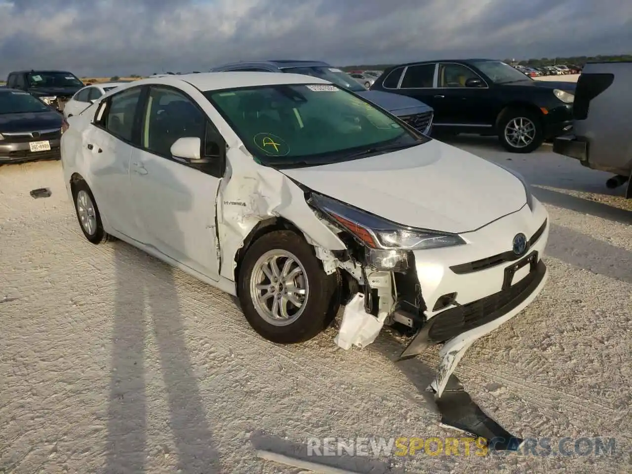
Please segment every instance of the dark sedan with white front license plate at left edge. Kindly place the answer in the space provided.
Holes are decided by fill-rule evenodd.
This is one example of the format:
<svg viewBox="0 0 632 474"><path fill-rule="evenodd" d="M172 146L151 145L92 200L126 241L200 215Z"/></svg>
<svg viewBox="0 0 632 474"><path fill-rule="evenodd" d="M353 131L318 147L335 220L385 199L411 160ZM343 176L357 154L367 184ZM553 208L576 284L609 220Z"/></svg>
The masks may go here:
<svg viewBox="0 0 632 474"><path fill-rule="evenodd" d="M59 159L62 121L28 92L0 88L0 163Z"/></svg>

